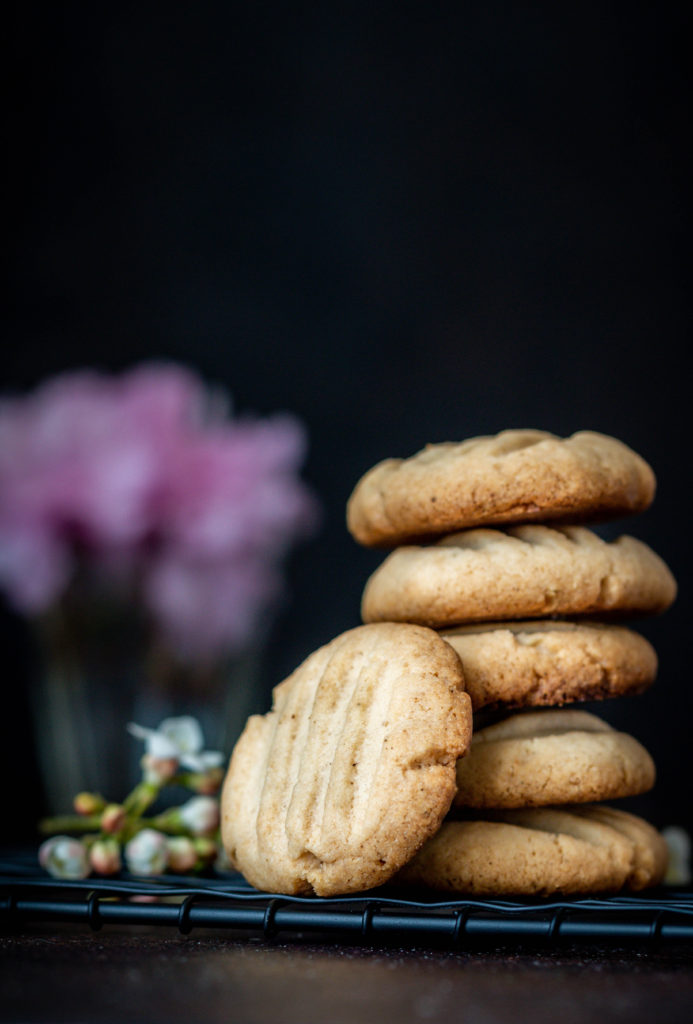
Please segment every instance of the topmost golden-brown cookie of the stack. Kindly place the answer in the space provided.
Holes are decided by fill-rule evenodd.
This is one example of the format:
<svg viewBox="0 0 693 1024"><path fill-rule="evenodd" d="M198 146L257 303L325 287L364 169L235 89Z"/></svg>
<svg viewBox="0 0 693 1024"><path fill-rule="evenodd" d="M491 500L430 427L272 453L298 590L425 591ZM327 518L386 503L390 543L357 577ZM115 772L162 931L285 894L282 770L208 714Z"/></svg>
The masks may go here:
<svg viewBox="0 0 693 1024"><path fill-rule="evenodd" d="M479 525L598 522L641 512L654 473L614 437L504 430L387 459L356 484L347 526L369 547L393 547Z"/></svg>

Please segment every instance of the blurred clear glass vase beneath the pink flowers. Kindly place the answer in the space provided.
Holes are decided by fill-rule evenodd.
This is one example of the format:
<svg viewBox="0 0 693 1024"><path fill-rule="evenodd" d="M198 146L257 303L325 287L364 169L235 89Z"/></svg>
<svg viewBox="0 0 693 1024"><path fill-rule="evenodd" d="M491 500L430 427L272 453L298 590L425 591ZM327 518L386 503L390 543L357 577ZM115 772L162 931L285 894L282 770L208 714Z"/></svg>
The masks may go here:
<svg viewBox="0 0 693 1024"><path fill-rule="evenodd" d="M156 728L192 715L207 750L225 756L257 710L261 648L182 664L122 602L71 595L39 624L33 684L36 749L46 810L70 811L75 794L120 802L141 778L141 740L128 722Z"/></svg>

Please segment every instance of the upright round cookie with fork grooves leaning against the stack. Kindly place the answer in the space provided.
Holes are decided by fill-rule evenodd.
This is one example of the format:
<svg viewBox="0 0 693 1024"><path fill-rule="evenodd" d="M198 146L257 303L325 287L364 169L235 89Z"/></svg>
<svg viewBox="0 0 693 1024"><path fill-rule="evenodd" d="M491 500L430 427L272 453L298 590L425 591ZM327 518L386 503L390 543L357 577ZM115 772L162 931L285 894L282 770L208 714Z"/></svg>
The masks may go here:
<svg viewBox="0 0 693 1024"><path fill-rule="evenodd" d="M471 730L460 658L435 632L342 634L274 689L235 745L221 797L231 862L279 893L381 885L437 830Z"/></svg>

